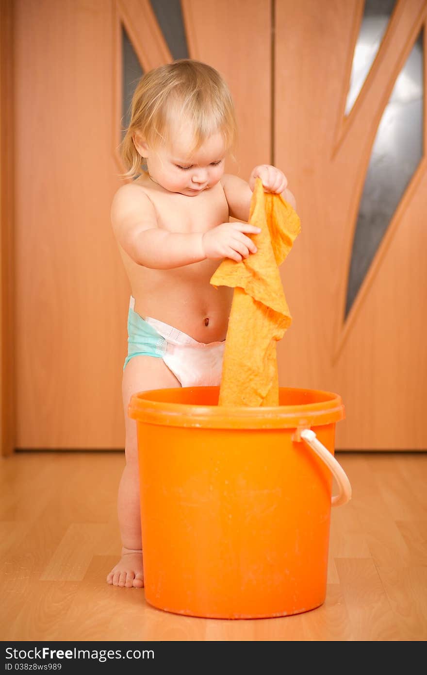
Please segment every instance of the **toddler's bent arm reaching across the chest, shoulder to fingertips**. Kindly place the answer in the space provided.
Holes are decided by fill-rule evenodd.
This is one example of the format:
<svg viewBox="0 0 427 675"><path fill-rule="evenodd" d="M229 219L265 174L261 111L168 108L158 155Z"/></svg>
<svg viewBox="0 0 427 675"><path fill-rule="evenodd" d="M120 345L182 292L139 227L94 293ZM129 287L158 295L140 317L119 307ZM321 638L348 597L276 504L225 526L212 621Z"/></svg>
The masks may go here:
<svg viewBox="0 0 427 675"><path fill-rule="evenodd" d="M248 223L221 223L208 232L169 232L158 227L150 198L139 186L123 185L111 204L111 223L120 246L138 265L173 269L206 258L241 261L256 251L244 234L260 232Z"/></svg>

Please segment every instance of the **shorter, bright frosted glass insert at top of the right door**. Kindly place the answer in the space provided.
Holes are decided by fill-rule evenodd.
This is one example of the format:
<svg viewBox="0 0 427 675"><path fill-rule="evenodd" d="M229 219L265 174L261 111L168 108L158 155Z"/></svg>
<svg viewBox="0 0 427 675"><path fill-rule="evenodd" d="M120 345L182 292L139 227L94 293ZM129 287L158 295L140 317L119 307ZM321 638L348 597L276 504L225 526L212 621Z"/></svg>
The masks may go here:
<svg viewBox="0 0 427 675"><path fill-rule="evenodd" d="M366 0L351 66L350 86L345 104L346 115L358 98L370 67L374 63L395 4L396 0Z"/></svg>

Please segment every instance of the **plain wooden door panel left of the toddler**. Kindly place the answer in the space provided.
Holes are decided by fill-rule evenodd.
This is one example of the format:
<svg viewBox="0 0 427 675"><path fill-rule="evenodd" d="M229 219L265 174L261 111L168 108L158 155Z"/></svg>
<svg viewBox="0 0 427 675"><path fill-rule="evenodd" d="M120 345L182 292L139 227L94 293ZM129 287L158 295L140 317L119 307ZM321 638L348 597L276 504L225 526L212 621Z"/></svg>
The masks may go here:
<svg viewBox="0 0 427 675"><path fill-rule="evenodd" d="M15 3L18 448L124 445L112 9Z"/></svg>

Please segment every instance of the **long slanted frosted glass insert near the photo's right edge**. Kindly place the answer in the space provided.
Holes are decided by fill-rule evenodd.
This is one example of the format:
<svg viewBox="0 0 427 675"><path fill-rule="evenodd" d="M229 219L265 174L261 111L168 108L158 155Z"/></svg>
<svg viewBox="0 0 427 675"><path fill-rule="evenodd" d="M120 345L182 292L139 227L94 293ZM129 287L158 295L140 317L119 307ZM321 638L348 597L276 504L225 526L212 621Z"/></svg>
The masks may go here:
<svg viewBox="0 0 427 675"><path fill-rule="evenodd" d="M353 241L345 316L424 152L423 32L396 80L374 140Z"/></svg>

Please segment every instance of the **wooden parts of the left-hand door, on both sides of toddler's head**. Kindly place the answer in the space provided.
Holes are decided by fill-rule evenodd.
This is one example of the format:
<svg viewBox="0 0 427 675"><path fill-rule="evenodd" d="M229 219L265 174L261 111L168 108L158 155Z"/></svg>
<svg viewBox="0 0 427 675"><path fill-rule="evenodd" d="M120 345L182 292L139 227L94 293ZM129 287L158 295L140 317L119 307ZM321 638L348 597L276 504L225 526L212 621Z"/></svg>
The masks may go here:
<svg viewBox="0 0 427 675"><path fill-rule="evenodd" d="M188 51L201 43L237 98L242 175L268 161L271 126L270 5L245 7L243 20L225 0L182 12ZM148 0L16 0L13 25L16 447L123 448L130 287L109 213L125 168L122 26L144 72L173 55Z"/></svg>

